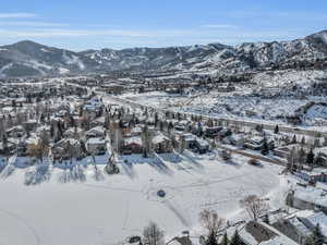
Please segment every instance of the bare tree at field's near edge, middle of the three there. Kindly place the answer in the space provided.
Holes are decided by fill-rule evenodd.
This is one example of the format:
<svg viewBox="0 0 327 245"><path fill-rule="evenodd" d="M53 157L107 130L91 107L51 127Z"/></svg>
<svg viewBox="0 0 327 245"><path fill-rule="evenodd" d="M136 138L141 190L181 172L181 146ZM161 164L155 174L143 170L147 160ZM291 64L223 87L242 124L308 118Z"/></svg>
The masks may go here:
<svg viewBox="0 0 327 245"><path fill-rule="evenodd" d="M208 231L208 235L217 235L219 229L222 226L225 219L214 210L205 209L199 213L199 221L202 225Z"/></svg>

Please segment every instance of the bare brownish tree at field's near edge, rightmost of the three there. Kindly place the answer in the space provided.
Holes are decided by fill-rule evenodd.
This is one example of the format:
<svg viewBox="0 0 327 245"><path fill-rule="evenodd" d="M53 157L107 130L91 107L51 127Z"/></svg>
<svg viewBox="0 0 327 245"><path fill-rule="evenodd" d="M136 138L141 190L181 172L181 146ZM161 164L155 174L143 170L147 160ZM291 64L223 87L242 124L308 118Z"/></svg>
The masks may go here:
<svg viewBox="0 0 327 245"><path fill-rule="evenodd" d="M245 208L249 216L253 220L257 220L268 209L268 205L264 199L256 195L247 195L241 200L241 205Z"/></svg>

